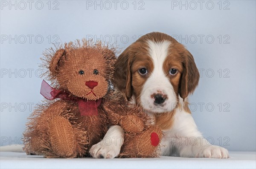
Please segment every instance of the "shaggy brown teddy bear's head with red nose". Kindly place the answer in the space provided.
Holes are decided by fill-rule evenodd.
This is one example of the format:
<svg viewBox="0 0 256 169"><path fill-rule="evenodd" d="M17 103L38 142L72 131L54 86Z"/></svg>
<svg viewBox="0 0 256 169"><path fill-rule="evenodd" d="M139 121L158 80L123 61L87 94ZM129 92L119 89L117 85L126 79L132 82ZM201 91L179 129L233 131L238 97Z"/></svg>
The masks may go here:
<svg viewBox="0 0 256 169"><path fill-rule="evenodd" d="M45 56L49 79L57 81L59 89L87 100L102 98L108 92L116 61L114 48L83 39Z"/></svg>

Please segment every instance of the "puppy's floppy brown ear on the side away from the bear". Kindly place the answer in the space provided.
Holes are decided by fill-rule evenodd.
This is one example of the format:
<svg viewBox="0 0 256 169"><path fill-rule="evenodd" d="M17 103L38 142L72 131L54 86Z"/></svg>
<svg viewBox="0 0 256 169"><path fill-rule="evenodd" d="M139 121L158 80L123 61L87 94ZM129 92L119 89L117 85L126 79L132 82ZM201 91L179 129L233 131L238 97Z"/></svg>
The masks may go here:
<svg viewBox="0 0 256 169"><path fill-rule="evenodd" d="M195 65L195 60L189 51L183 54L183 73L180 79L180 97L184 100L190 93L193 93L199 81L199 71Z"/></svg>

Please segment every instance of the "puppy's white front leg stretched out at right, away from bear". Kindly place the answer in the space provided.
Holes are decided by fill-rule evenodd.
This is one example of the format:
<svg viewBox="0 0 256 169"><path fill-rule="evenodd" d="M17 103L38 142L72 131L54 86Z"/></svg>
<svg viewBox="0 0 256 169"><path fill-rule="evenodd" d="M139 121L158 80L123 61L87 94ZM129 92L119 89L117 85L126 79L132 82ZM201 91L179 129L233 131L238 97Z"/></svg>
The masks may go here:
<svg viewBox="0 0 256 169"><path fill-rule="evenodd" d="M176 140L172 140L171 144L181 157L229 158L227 149L209 144L189 113L183 111L176 115L172 135L175 135Z"/></svg>

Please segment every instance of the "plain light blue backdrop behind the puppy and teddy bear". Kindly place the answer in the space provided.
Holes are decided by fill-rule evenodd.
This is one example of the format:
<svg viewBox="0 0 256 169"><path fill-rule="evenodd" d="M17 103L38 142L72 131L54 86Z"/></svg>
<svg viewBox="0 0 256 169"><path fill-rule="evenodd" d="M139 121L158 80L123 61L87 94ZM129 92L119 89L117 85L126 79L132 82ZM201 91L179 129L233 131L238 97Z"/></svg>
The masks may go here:
<svg viewBox="0 0 256 169"><path fill-rule="evenodd" d="M29 104L34 107L43 99L39 93L42 79L35 75L35 72L41 74L39 58L45 48L53 46L50 43L55 39L68 42L96 36L114 43L116 37L116 44L123 51L138 36L160 31L178 37L202 71L190 102L192 115L203 135L209 142L213 140L213 144L229 150L256 150L254 0L204 1L201 8L198 1L182 1L187 4L187 9L180 6L180 1L156 0L118 1L116 9L112 1L109 1L111 8L108 2L102 1L102 9L94 6L94 1L52 1L50 10L48 1L42 1L44 7L41 10L37 9L41 8L40 2L35 4L37 1L32 3L31 10L29 3L22 10L24 4L16 1L16 10L15 6L6 6L5 2L9 3L1 1L0 11L1 145L21 143L26 118L32 113ZM91 3L93 6L88 6ZM127 3L129 6L125 10ZM214 7L210 10L212 3ZM59 9L52 10L56 5ZM224 10L225 6L227 10ZM142 10L138 10L139 7ZM9 35L12 38L17 35L17 43L5 40ZM29 36L33 36L31 43ZM40 37L44 38L42 43L39 43ZM16 69L17 73L12 74L9 69L12 72ZM27 69L32 69L31 77ZM17 111L9 107L15 103Z"/></svg>

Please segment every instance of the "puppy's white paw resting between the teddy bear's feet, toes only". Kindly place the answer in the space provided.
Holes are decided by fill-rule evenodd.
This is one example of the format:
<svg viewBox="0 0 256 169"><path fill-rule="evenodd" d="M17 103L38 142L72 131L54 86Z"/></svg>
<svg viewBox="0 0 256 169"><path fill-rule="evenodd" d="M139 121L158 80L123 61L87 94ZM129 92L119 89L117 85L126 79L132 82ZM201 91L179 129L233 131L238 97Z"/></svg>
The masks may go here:
<svg viewBox="0 0 256 169"><path fill-rule="evenodd" d="M115 158L120 153L120 146L115 144L104 145L103 141L94 144L90 149L93 158Z"/></svg>

